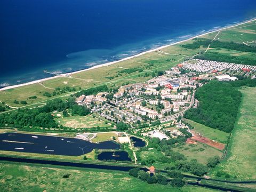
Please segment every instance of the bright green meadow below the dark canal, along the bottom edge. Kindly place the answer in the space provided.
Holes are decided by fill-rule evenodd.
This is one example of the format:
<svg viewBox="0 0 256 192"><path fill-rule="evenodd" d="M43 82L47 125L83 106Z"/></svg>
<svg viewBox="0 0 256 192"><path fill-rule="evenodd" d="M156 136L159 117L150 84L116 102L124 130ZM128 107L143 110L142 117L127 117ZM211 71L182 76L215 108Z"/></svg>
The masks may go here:
<svg viewBox="0 0 256 192"><path fill-rule="evenodd" d="M62 178L70 174L69 178ZM1 191L214 191L185 186L149 185L127 172L30 164L0 164Z"/></svg>

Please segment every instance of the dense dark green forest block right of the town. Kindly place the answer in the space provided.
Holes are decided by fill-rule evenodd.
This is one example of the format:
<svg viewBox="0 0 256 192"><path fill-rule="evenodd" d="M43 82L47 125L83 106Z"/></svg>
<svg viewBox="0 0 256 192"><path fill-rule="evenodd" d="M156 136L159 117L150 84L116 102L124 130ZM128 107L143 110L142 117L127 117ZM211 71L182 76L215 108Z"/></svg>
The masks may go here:
<svg viewBox="0 0 256 192"><path fill-rule="evenodd" d="M184 117L212 128L231 132L238 114L242 93L227 82L211 81L195 94L198 108L190 108Z"/></svg>

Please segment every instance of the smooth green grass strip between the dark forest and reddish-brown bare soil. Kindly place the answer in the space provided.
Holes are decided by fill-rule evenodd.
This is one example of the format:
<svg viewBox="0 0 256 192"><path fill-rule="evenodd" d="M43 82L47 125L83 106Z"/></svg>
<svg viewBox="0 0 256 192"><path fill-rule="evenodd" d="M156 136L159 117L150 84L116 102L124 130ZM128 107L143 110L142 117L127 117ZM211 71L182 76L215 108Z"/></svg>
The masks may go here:
<svg viewBox="0 0 256 192"><path fill-rule="evenodd" d="M213 129L211 127L202 125L200 123L196 123L189 119L185 119L185 121L195 128L193 131L195 131L196 133L199 132L200 134L204 135L204 137L206 138L209 138L211 140L215 140L221 143L228 142L229 133L226 133L224 131L220 131L217 129Z"/></svg>

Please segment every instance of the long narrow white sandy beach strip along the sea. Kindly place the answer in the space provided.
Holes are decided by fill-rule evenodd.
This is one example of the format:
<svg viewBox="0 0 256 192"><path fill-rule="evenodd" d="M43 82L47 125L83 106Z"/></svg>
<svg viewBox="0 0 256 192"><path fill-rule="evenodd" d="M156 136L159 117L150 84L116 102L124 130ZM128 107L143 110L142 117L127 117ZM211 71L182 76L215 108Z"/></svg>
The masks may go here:
<svg viewBox="0 0 256 192"><path fill-rule="evenodd" d="M54 78L67 77L69 75L81 73L83 71L87 71L87 70L91 70L91 69L97 69L97 68L100 68L100 67L103 67L103 66L110 66L110 65L113 65L113 64L118 63L118 62L122 62L122 61L125 61L125 60L129 60L129 59L133 59L133 58L139 57L139 56L141 56L143 54L146 54L146 53L150 53L150 52L154 52L154 51L157 51L157 50L161 50L161 49L164 49L166 47L169 47L169 46L172 46L172 45L176 45L176 44L179 44L179 43L183 43L183 42L189 41L189 40L197 38L197 37L201 37L201 36L204 36L204 35L207 35L207 34L215 33L217 31L229 29L229 28L236 27L236 26L239 26L239 25L243 25L245 23L253 22L253 21L256 21L256 18L250 19L250 20L246 20L246 21L242 21L242 22L239 22L239 23L237 23L235 25L231 25L231 26L228 26L228 27L223 27L223 28L220 28L220 29L212 30L212 31L209 31L209 32L204 33L204 34L200 34L200 35L196 35L196 36L190 37L188 39L184 39L182 41L178 41L178 42L175 42L175 43L171 43L171 44L168 44L168 45L163 45L163 46L160 46L160 47L157 47L157 48L154 48L154 49L150 49L148 51L144 51L144 52L132 55L130 57L123 58L121 60L111 61L111 62L103 63L103 64L100 64L100 65L96 65L96 66L93 66L93 67L90 67L90 68L87 68L87 69L77 70L77 71L74 71L74 72L60 74L60 75L56 75L56 76L53 76L53 77L46 77L46 78L38 79L38 80L35 80L35 81L27 82L27 83L6 86L6 87L1 88L0 91L14 89L14 88L17 88L17 87L31 85L31 84L36 84L36 83L48 81L48 80L54 79Z"/></svg>

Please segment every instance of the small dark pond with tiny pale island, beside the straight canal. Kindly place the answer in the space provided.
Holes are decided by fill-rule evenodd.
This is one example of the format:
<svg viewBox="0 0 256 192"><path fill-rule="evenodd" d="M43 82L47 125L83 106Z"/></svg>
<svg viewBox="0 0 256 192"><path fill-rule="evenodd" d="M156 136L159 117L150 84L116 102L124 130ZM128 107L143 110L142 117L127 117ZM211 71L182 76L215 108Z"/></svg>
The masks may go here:
<svg viewBox="0 0 256 192"><path fill-rule="evenodd" d="M126 151L111 151L102 152L98 155L100 161L103 160L116 160L116 161L132 161Z"/></svg>

